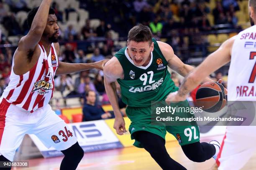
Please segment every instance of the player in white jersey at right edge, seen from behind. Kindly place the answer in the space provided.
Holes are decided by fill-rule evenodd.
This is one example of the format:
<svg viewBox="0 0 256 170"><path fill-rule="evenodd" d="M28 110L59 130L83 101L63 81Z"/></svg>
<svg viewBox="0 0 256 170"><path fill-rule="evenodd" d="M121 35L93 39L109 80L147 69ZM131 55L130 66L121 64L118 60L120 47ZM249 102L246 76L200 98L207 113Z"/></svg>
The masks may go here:
<svg viewBox="0 0 256 170"><path fill-rule="evenodd" d="M169 94L167 103L185 100L205 77L230 60L228 100L256 101L256 0L249 0L249 11L253 26L223 42L184 79L178 92ZM255 126L227 126L214 169L241 169L255 153L255 140Z"/></svg>

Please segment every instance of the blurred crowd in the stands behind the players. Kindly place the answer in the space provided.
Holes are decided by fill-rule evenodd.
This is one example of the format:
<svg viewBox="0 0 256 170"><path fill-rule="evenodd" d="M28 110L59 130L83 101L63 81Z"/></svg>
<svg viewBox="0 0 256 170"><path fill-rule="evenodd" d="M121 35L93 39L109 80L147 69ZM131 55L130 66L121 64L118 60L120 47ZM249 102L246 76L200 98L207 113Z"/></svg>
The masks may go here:
<svg viewBox="0 0 256 170"><path fill-rule="evenodd" d="M27 13L40 2L0 0L0 95L9 82L17 43L28 32ZM250 26L247 5L247 0L54 0L51 6L61 32L60 61L111 58L127 45L129 29L143 23L184 63L196 66L223 41ZM223 78L226 86L228 66L213 73L212 79ZM180 85L182 77L172 72L171 78ZM83 106L90 91L95 92L97 104L109 103L102 71L56 76L51 105L56 109ZM194 98L192 93L189 100Z"/></svg>

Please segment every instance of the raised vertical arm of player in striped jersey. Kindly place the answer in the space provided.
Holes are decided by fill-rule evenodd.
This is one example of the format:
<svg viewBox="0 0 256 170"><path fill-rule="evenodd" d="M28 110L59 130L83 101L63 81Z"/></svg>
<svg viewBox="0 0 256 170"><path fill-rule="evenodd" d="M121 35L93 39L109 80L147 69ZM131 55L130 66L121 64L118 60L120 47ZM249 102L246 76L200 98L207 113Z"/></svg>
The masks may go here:
<svg viewBox="0 0 256 170"><path fill-rule="evenodd" d="M52 0L42 0L28 34L22 37L18 43L18 50L29 52L35 49L46 27L51 2Z"/></svg>

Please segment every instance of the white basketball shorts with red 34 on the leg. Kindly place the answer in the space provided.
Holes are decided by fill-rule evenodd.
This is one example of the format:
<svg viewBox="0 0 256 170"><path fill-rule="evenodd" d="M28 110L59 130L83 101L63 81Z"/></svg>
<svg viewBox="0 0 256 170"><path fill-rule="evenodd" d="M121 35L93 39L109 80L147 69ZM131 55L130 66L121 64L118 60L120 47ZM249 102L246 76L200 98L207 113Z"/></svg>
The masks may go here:
<svg viewBox="0 0 256 170"><path fill-rule="evenodd" d="M28 112L8 103L0 103L0 155L13 161L15 150L25 134L36 135L47 148L66 150L77 142L72 129L46 105Z"/></svg>

